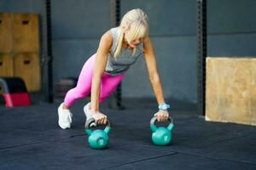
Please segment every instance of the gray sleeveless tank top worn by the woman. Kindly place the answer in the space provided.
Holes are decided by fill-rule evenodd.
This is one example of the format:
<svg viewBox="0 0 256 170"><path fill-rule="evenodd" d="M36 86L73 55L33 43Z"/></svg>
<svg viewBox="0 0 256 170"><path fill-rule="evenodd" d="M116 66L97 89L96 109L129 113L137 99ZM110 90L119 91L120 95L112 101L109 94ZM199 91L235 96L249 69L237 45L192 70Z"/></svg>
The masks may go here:
<svg viewBox="0 0 256 170"><path fill-rule="evenodd" d="M108 62L107 62L105 71L112 76L117 76L127 71L130 68L130 66L137 61L138 57L141 54L143 54L143 42L141 42L137 46L137 50L134 55L132 55L133 51L131 49L122 48L117 59L114 59L113 54L117 47L118 36L119 36L118 28L117 27L112 28L111 32L113 36L113 44L112 44L111 52L108 54Z"/></svg>

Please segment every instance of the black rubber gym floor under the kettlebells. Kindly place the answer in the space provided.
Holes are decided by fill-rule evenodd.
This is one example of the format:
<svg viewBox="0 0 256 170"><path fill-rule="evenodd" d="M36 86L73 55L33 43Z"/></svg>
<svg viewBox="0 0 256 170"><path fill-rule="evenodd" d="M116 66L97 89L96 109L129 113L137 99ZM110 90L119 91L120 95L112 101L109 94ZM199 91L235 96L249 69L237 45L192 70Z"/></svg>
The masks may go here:
<svg viewBox="0 0 256 170"><path fill-rule="evenodd" d="M172 144L155 146L149 128L154 100L124 99L123 111L104 102L101 111L113 129L108 149L93 150L84 134L87 99L72 106L68 130L57 125L60 102L0 106L0 169L256 169L256 127L206 122L195 105L172 102Z"/></svg>

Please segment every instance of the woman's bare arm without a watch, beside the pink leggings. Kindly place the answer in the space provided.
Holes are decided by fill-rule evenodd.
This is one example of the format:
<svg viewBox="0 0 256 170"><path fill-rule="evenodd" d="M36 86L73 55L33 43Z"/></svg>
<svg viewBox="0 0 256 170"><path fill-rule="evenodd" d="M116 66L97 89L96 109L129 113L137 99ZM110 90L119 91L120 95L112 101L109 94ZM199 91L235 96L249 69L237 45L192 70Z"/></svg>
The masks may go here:
<svg viewBox="0 0 256 170"><path fill-rule="evenodd" d="M92 77L92 84L91 84L91 111L92 113L99 112L99 98L101 94L101 81L102 81L102 74L105 71L105 67L108 60L108 53L110 48L112 47L112 35L110 31L107 31L104 35L102 35L99 47L96 51L96 60L95 66L93 71ZM106 122L106 120L99 120L97 124L102 124Z"/></svg>

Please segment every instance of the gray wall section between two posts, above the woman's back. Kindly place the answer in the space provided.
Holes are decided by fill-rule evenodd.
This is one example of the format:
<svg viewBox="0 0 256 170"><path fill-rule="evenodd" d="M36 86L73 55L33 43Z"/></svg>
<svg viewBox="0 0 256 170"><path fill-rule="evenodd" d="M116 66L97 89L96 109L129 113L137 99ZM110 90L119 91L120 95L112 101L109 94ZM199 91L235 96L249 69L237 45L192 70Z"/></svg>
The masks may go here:
<svg viewBox="0 0 256 170"><path fill-rule="evenodd" d="M52 1L54 81L78 77L109 27L110 3L106 0Z"/></svg>

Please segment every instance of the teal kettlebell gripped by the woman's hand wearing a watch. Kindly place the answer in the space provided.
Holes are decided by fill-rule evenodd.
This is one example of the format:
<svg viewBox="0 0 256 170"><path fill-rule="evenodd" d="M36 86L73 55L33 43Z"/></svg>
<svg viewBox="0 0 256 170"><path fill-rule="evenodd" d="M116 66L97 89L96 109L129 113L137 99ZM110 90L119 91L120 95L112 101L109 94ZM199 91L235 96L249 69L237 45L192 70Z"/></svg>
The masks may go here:
<svg viewBox="0 0 256 170"><path fill-rule="evenodd" d="M170 124L168 127L156 127L155 122L157 116L154 116L150 121L150 128L152 130L152 141L156 145L167 145L172 141L172 128L174 127L173 119L171 116L168 118Z"/></svg>

